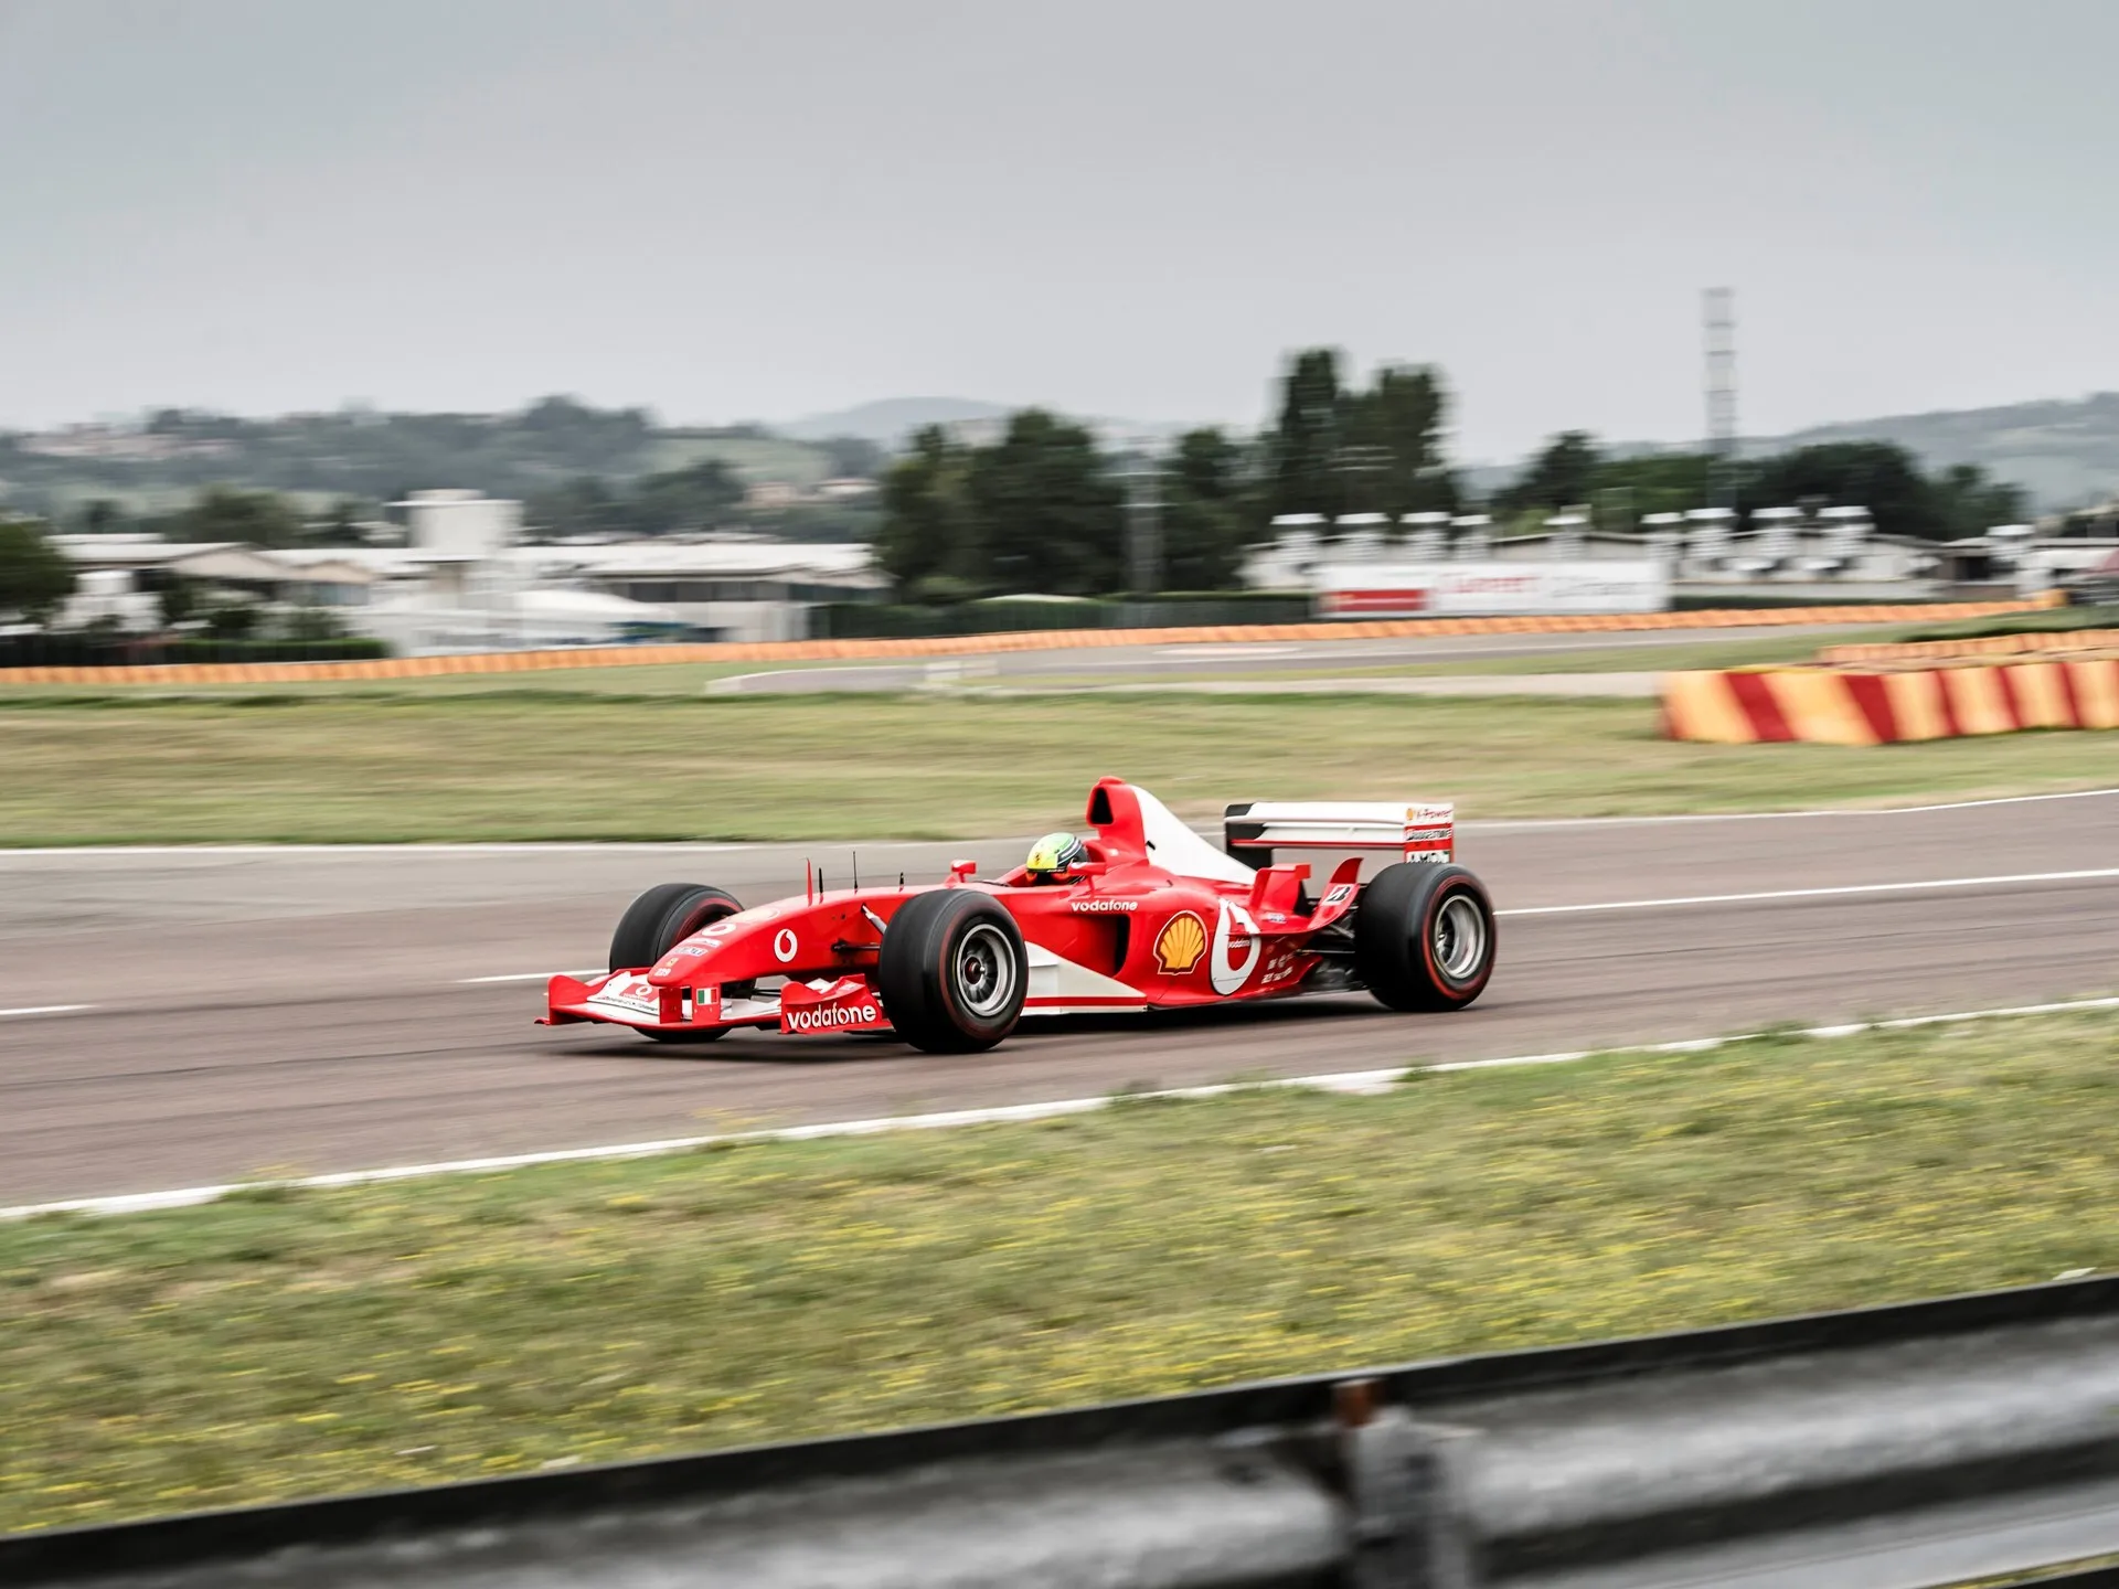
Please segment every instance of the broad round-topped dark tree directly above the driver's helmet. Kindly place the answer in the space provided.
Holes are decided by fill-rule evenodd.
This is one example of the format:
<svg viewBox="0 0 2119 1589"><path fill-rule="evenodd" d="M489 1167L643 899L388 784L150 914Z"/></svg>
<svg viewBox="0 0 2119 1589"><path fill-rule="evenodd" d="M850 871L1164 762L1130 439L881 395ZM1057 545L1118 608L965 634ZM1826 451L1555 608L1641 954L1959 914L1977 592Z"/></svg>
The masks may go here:
<svg viewBox="0 0 2119 1589"><path fill-rule="evenodd" d="M1011 415L1000 443L973 453L968 487L992 589L1123 589L1125 492L1083 426L1045 409Z"/></svg>

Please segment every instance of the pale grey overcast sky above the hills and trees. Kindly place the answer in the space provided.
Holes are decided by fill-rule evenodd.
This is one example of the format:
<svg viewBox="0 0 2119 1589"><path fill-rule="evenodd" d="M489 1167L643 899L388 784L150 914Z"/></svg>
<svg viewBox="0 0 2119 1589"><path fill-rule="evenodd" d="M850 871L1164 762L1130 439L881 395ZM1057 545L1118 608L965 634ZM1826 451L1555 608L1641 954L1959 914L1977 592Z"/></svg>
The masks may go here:
<svg viewBox="0 0 2119 1589"><path fill-rule="evenodd" d="M1458 451L2119 386L2119 0L0 0L0 424L1252 424Z"/></svg>

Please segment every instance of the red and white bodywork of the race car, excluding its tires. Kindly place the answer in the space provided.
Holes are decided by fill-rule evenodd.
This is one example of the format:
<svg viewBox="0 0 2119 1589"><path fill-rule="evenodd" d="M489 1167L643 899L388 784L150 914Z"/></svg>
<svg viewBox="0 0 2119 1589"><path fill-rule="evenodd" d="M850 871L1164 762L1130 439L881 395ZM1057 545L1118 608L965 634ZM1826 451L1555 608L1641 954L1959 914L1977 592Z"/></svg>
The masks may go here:
<svg viewBox="0 0 2119 1589"><path fill-rule="evenodd" d="M1015 917L1030 953L1023 1015L1182 1008L1303 992L1320 964L1312 941L1339 924L1360 892L1358 856L1341 860L1316 890L1307 864L1252 871L1117 778L1091 790L1087 820L1096 831L1089 860L1068 881L1030 883L1021 869L979 881L962 862L939 883L992 894ZM1409 835L1405 858L1447 860L1447 814L1441 822ZM712 922L655 966L587 981L553 977L545 1023L888 1032L873 987L877 951L890 917L920 892L833 890L756 905ZM769 979L786 981L761 989Z"/></svg>

